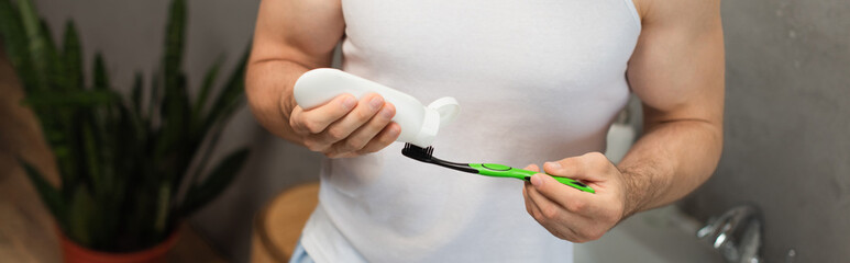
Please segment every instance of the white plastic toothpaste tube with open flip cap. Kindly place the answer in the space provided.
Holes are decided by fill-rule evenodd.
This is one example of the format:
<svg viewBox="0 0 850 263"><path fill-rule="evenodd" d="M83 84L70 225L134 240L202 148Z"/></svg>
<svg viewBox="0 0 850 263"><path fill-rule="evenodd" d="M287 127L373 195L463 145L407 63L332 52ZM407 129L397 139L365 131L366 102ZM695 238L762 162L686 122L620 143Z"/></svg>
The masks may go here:
<svg viewBox="0 0 850 263"><path fill-rule="evenodd" d="M396 141L419 147L431 146L440 125L452 122L461 110L457 101L451 96L438 99L426 107L407 93L331 68L307 71L295 82L292 91L296 103L305 110L322 105L344 93L361 99L373 92L380 94L384 101L396 107L393 122L401 126L401 134Z"/></svg>

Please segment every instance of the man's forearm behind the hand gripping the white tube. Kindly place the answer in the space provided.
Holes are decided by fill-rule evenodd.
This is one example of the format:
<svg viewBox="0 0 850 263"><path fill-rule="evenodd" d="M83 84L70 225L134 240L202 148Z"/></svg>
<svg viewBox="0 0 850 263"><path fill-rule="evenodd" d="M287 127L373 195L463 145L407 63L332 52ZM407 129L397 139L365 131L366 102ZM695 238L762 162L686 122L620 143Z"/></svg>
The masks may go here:
<svg viewBox="0 0 850 263"><path fill-rule="evenodd" d="M289 114L295 107L292 85L308 68L287 60L251 61L245 91L251 111L257 121L274 135L301 144L301 137L289 126Z"/></svg>

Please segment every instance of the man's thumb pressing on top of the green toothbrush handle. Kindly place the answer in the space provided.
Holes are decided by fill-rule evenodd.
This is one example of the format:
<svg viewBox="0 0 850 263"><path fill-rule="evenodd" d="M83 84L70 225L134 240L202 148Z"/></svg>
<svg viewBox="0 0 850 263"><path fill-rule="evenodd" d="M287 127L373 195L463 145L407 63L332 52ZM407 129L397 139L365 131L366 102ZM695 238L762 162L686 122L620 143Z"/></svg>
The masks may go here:
<svg viewBox="0 0 850 263"><path fill-rule="evenodd" d="M600 152L588 152L583 156L565 158L560 161L543 163L543 171L549 174L599 182L607 180L608 170L614 164Z"/></svg>

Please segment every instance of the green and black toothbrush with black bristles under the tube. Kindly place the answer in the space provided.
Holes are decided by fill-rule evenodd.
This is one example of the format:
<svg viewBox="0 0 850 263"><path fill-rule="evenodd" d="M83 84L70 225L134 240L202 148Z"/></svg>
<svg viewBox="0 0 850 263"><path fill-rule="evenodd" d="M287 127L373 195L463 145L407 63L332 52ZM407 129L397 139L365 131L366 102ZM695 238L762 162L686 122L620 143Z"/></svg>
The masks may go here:
<svg viewBox="0 0 850 263"><path fill-rule="evenodd" d="M529 181L531 179L531 175L533 175L534 171L528 171L522 169L516 169L504 164L496 164L496 163L457 163L457 162L450 162L444 161L439 158L433 157L434 148L428 147L428 148L421 148L411 144L406 144L405 149L401 150L401 155L405 155L406 157L409 157L411 159L428 162L437 165L441 165L449 169L454 169L457 171L468 172L468 173L477 173L481 175L487 175L487 176L495 176L495 178L515 178L519 180ZM561 182L562 184L570 185L574 188L587 192L587 193L596 193L593 188L587 186L586 184L578 182L576 180L572 180L568 178L561 178L561 176L554 176L558 182Z"/></svg>

